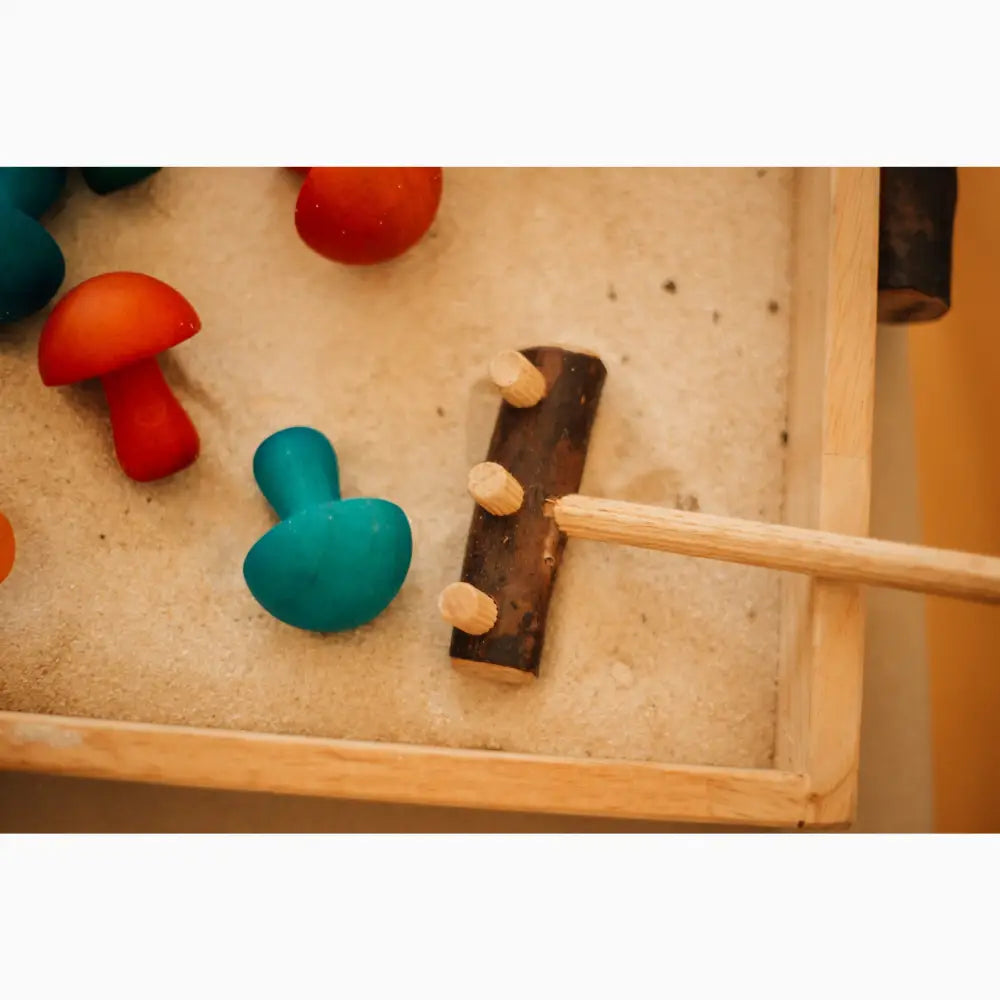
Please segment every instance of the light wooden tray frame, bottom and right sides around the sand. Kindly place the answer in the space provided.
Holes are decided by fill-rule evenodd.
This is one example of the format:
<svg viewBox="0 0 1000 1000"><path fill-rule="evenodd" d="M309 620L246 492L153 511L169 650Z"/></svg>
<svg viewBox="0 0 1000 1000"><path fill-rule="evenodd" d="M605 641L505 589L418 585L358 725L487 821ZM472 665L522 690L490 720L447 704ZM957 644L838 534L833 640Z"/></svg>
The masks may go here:
<svg viewBox="0 0 1000 1000"><path fill-rule="evenodd" d="M796 172L785 520L865 535L871 486L878 170ZM861 587L782 581L774 768L695 767L0 712L0 769L764 828L854 819ZM442 649L442 669L449 669Z"/></svg>

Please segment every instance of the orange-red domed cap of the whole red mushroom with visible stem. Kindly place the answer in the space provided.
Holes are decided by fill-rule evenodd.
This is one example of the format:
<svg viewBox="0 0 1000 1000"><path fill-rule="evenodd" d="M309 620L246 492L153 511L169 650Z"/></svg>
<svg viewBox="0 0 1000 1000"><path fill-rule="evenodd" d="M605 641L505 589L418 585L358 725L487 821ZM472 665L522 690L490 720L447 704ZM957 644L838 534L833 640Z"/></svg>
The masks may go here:
<svg viewBox="0 0 1000 1000"><path fill-rule="evenodd" d="M201 320L180 292L133 271L88 278L56 304L38 341L45 385L100 378L193 337Z"/></svg>

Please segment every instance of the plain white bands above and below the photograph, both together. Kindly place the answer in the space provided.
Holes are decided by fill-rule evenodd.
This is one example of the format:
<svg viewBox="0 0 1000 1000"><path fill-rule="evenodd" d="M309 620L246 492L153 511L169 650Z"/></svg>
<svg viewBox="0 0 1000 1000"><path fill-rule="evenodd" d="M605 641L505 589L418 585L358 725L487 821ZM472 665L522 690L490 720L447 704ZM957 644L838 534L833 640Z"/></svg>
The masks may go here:
<svg viewBox="0 0 1000 1000"><path fill-rule="evenodd" d="M12 0L0 160L998 164L996 33L971 7ZM992 995L996 848L9 836L0 992Z"/></svg>

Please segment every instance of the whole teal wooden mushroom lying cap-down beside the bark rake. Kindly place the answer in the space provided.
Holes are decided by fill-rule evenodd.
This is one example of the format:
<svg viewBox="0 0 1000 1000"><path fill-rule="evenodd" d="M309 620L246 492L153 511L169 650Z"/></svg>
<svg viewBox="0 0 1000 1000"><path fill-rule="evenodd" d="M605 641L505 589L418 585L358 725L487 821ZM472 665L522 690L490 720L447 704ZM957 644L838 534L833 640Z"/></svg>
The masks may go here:
<svg viewBox="0 0 1000 1000"><path fill-rule="evenodd" d="M341 499L333 445L309 427L263 441L253 471L281 518L243 563L257 602L286 625L314 632L357 628L380 615L410 568L403 511L388 500Z"/></svg>

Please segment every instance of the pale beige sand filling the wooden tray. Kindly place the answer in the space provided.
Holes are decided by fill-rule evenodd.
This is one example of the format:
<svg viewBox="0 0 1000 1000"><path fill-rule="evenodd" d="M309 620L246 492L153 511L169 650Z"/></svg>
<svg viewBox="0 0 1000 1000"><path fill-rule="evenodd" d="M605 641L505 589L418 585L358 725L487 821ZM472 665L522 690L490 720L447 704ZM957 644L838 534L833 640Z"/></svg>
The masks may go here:
<svg viewBox="0 0 1000 1000"><path fill-rule="evenodd" d="M0 707L446 746L766 766L775 574L571 540L532 686L456 674L436 611L458 578L498 405L494 353L541 343L608 367L583 490L779 520L791 172L449 170L433 231L378 268L298 240L296 175L167 169L51 225L66 288L113 269L171 283L203 330L165 360L203 453L172 481L119 471L98 387L46 389L42 317L0 339ZM257 444L330 436L345 496L414 527L397 601L337 636L253 601L272 523Z"/></svg>

